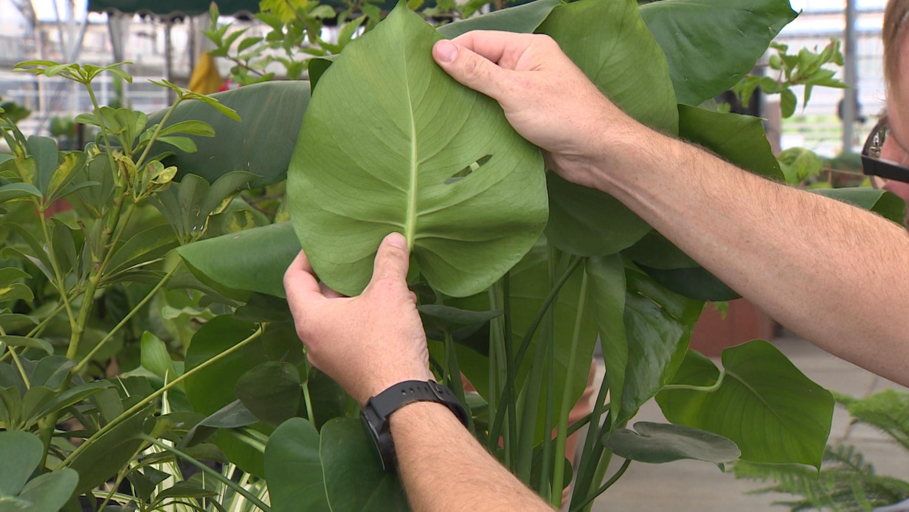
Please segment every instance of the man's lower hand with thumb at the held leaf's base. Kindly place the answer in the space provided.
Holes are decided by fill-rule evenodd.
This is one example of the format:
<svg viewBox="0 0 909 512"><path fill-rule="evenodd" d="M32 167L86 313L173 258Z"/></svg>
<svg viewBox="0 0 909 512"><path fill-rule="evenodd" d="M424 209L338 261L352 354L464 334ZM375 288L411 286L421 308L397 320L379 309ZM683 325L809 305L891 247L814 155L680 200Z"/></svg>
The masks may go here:
<svg viewBox="0 0 909 512"><path fill-rule="evenodd" d="M363 294L338 295L318 283L301 251L285 272L287 302L310 363L357 402L405 380L429 380L429 352L416 296L407 289L404 236L385 236Z"/></svg>

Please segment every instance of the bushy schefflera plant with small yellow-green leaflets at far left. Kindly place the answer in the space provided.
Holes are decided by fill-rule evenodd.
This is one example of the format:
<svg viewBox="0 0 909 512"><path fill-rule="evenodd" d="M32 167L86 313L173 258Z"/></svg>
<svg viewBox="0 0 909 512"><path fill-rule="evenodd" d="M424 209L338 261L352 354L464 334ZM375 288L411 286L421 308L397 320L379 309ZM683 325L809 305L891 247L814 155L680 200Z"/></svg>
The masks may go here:
<svg viewBox="0 0 909 512"><path fill-rule="evenodd" d="M153 417L157 403L195 372L175 366L160 376L110 380L103 366L99 372L93 364L110 359L111 348L122 343L122 329L139 312L147 312L146 304L181 267L174 258L165 262L165 255L205 236L210 217L255 175L226 173L212 186L186 175L175 183L177 168L162 163L173 154L165 147L192 152L195 143L187 136L215 136L204 121L167 124L177 106L196 100L219 115L239 117L215 99L166 81L155 83L173 89L177 100L158 122L128 108L98 105L93 81L102 73L132 81L121 68L125 64L40 60L15 66L85 87L94 109L77 121L94 125L97 136L84 151L59 151L52 138L25 137L0 112L0 134L11 150L0 155L0 213L5 216L0 268L0 474L5 477L0 502L16 509L82 509L80 495L99 510L112 499L124 506L132 500L135 507L143 498L161 504L168 496L196 492L184 484L176 490L157 489L157 498L151 491L144 497L115 498L126 477L134 481L155 472L142 469L140 460L170 448L161 439L177 425L175 419ZM63 199L75 212L50 216L51 207ZM144 213L136 215L140 211ZM115 325L105 325L105 313L98 309L108 304L106 296L123 293L124 285L144 288L145 296L123 305ZM163 344L155 345L154 336L146 343L146 337L143 363L157 368L152 348ZM166 351L163 357L169 360ZM168 412L166 401L164 409ZM78 432L67 435L74 428ZM215 481L234 485L208 470ZM162 479L150 484L152 489ZM99 489L105 482L112 487ZM245 489L237 492L252 497Z"/></svg>

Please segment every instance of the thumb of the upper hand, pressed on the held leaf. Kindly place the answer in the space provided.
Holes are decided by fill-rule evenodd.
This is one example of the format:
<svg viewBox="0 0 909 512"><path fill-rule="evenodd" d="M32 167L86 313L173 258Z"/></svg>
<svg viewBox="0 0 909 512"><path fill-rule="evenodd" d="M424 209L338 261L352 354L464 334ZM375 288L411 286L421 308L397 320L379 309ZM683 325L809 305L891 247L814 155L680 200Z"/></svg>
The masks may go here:
<svg viewBox="0 0 909 512"><path fill-rule="evenodd" d="M436 64L452 78L494 100L502 92L504 69L463 45L443 39L433 46Z"/></svg>

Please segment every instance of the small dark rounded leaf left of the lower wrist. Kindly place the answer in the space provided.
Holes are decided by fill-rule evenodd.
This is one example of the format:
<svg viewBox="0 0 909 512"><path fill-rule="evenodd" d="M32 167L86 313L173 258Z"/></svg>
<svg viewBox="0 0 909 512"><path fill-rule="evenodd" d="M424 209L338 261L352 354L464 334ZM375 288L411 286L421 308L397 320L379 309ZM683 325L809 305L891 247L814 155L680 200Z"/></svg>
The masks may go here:
<svg viewBox="0 0 909 512"><path fill-rule="evenodd" d="M300 372L290 363L267 361L240 376L235 393L255 417L277 427L300 407Z"/></svg>

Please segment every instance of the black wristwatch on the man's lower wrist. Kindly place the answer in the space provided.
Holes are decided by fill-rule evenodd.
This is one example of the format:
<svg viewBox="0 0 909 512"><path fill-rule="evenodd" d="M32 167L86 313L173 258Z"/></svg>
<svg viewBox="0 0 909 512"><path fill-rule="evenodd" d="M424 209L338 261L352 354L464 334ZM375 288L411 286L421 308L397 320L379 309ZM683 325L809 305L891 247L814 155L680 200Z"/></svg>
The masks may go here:
<svg viewBox="0 0 909 512"><path fill-rule="evenodd" d="M376 455L382 461L385 471L395 471L397 468L395 442L388 426L388 417L400 407L414 402L444 404L461 420L464 427L467 427L467 411L464 410L464 406L457 401L451 389L435 381L405 380L385 389L375 397L369 398L360 413L366 431L375 441Z"/></svg>

